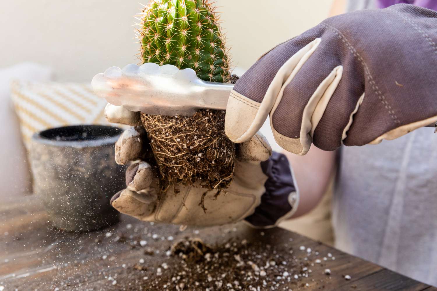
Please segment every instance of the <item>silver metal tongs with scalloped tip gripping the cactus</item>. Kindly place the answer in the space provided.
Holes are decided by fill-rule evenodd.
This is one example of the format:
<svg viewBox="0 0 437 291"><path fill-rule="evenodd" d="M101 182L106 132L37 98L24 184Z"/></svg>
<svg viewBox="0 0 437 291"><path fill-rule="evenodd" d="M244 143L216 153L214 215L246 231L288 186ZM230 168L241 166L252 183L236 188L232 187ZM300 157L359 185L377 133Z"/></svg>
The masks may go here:
<svg viewBox="0 0 437 291"><path fill-rule="evenodd" d="M201 108L225 110L234 84L203 81L190 68L145 63L108 68L92 86L97 96L128 110L192 116Z"/></svg>

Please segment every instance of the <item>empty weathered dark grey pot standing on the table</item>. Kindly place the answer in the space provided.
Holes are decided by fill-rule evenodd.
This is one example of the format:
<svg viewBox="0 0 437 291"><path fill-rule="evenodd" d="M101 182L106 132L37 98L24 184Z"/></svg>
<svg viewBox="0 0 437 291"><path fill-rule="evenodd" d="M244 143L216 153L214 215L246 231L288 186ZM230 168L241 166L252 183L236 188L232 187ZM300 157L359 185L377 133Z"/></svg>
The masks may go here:
<svg viewBox="0 0 437 291"><path fill-rule="evenodd" d="M56 228L91 231L118 221L109 201L126 187L125 168L114 160L114 144L121 133L117 127L83 125L34 134L34 192Z"/></svg>

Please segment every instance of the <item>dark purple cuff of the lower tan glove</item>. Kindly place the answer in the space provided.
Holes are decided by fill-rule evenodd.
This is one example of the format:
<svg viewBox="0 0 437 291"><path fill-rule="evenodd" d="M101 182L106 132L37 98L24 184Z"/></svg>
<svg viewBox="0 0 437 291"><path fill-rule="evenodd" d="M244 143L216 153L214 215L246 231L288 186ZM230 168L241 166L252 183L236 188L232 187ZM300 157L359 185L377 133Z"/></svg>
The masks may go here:
<svg viewBox="0 0 437 291"><path fill-rule="evenodd" d="M266 192L255 212L245 221L255 228L271 228L293 216L299 203L299 191L284 154L273 152L267 161L261 162L261 168L267 176Z"/></svg>

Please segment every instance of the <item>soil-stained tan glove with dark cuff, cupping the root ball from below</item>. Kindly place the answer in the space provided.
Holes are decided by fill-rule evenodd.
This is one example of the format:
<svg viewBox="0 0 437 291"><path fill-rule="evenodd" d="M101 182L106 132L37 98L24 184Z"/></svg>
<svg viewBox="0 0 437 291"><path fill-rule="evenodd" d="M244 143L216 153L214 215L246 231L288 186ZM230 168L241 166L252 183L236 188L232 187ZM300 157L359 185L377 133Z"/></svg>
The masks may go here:
<svg viewBox="0 0 437 291"><path fill-rule="evenodd" d="M239 145L234 177L229 187L205 188L170 185L158 187L158 169L146 131L137 113L108 104L108 121L137 125L126 130L115 144L118 164L135 161L126 171L127 188L111 199L118 211L143 221L212 226L242 219L254 227L272 227L290 217L297 208L298 193L283 154L273 153L267 140L255 134ZM204 195L205 194L205 195Z"/></svg>

